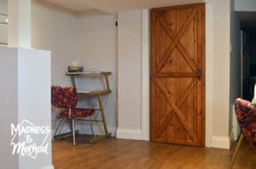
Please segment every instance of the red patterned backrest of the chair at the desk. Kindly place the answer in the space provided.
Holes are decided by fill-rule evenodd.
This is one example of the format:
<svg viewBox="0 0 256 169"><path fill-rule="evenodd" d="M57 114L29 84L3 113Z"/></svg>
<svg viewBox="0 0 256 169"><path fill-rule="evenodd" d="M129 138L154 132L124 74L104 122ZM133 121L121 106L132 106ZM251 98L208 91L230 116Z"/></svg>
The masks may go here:
<svg viewBox="0 0 256 169"><path fill-rule="evenodd" d="M78 93L75 87L51 87L51 104L58 108L75 108L78 103Z"/></svg>

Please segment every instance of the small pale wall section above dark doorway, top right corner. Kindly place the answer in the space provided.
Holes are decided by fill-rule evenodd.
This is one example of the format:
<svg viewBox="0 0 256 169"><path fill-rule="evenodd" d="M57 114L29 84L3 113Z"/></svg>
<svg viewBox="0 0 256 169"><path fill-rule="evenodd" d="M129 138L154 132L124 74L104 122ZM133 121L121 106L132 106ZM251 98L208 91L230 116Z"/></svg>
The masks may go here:
<svg viewBox="0 0 256 169"><path fill-rule="evenodd" d="M256 1L255 0L235 0L236 11L255 11Z"/></svg>

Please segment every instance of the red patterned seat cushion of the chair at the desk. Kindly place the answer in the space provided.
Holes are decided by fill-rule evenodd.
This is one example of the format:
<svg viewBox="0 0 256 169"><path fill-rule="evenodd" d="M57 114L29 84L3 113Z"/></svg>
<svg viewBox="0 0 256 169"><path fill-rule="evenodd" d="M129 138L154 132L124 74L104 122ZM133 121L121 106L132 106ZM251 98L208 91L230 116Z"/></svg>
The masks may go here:
<svg viewBox="0 0 256 169"><path fill-rule="evenodd" d="M61 117L70 117L70 118L81 118L81 117L87 117L94 114L95 114L94 109L71 109L70 116L69 116L68 109L61 111Z"/></svg>

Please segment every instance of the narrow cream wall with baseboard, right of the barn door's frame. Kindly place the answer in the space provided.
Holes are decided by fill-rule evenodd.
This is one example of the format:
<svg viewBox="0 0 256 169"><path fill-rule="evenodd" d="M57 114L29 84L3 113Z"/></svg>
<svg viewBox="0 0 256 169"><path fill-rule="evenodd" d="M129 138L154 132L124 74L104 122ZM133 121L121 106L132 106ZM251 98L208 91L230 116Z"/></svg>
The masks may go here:
<svg viewBox="0 0 256 169"><path fill-rule="evenodd" d="M212 128L212 145L209 146L229 149L230 0L212 1L212 16L208 20L212 20L212 42L210 44L212 63L207 64L211 66L208 73L210 76L208 78L211 78L211 88L207 88L207 90L211 90L210 93L212 93L206 112L212 114L212 126L210 126Z"/></svg>

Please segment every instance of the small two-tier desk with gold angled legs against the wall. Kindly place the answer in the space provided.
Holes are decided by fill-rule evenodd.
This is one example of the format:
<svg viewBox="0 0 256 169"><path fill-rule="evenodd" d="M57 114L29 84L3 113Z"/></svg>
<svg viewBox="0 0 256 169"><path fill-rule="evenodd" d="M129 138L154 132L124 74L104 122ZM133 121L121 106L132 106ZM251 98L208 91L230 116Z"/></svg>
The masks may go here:
<svg viewBox="0 0 256 169"><path fill-rule="evenodd" d="M96 98L98 100L99 110L100 110L101 116L102 116L102 120L96 120L96 121L100 121L100 122L103 123L103 127L104 127L104 132L105 133L102 136L91 138L90 139L90 144L94 144L99 139L110 137L111 133L108 132L107 122L106 122L105 114L104 114L104 108L103 108L103 105L102 105L102 95L112 93L112 91L109 88L109 82L108 82L108 76L112 75L112 73L109 72L109 71L101 71L101 72L67 72L66 75L70 76L73 87L76 87L75 76L84 76L84 77L88 77L88 76L104 76L105 86L106 86L105 90L100 90L100 91L77 90L77 91L78 91L78 93L89 94L89 95L92 95L92 96L96 96Z"/></svg>

